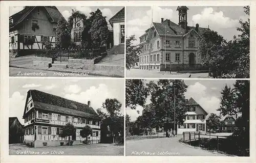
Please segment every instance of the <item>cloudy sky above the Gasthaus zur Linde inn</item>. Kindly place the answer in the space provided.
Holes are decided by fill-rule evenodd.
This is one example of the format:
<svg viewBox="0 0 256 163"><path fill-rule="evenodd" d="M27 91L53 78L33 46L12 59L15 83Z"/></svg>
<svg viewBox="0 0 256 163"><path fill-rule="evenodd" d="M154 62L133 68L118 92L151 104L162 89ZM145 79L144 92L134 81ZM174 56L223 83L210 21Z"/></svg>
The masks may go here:
<svg viewBox="0 0 256 163"><path fill-rule="evenodd" d="M90 100L96 111L106 98L116 98L122 103L121 113L124 112L124 80L123 79L35 79L11 78L9 93L9 117L22 119L27 92L36 89L56 96L85 103ZM104 110L102 110L104 112Z"/></svg>

